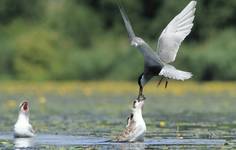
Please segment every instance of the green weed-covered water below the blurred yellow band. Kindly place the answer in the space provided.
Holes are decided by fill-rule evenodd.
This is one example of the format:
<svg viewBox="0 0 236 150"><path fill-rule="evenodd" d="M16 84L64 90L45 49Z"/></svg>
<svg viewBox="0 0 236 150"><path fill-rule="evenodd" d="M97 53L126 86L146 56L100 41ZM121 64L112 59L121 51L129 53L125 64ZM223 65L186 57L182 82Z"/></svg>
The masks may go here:
<svg viewBox="0 0 236 150"><path fill-rule="evenodd" d="M9 138L17 119L18 108L9 101L28 98L31 105L30 120L39 135L67 135L75 137L93 137L98 140L112 139L126 125L126 118L131 112L133 93L126 95L93 93L85 96L81 93L38 95L35 93L0 93L0 148L14 147ZM143 117L147 125L145 143L135 144L145 148L232 148L236 145L236 99L224 93L209 95L146 95L147 100ZM40 102L40 98L45 99ZM41 138L42 139L42 138ZM67 138L61 138L69 140ZM194 139L188 144L191 139ZM175 140L177 143L175 143ZM185 141L187 140L187 143ZM189 141L188 141L189 140ZM212 140L201 144L202 140ZM214 144L214 140L220 140ZM95 148L109 149L106 144L42 144L48 149ZM88 140L89 141L89 140ZM154 141L149 143L148 141ZM159 141L159 142L158 142ZM131 145L126 145L129 148Z"/></svg>

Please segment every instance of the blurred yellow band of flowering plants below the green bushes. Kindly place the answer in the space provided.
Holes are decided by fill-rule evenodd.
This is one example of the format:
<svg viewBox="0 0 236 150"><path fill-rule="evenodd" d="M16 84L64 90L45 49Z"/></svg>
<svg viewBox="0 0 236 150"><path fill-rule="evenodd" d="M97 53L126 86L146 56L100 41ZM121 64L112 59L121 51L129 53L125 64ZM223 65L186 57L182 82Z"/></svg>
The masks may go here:
<svg viewBox="0 0 236 150"><path fill-rule="evenodd" d="M162 83L157 86L153 80L145 87L145 95L168 95L181 96L185 94L229 94L236 96L236 82L195 82L195 81L170 81L167 89ZM138 85L131 81L2 81L0 82L1 93L55 93L69 94L79 92L82 95L93 94L136 94Z"/></svg>

